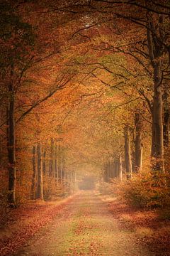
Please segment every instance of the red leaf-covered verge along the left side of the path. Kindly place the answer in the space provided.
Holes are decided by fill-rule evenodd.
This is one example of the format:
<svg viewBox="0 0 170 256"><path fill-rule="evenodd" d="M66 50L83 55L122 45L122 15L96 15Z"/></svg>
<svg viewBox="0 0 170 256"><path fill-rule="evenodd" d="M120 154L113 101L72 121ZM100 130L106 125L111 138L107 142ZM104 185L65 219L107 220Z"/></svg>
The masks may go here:
<svg viewBox="0 0 170 256"><path fill-rule="evenodd" d="M8 222L0 230L0 255L13 255L40 228L59 214L70 201L72 197L51 203L28 203L11 209Z"/></svg>

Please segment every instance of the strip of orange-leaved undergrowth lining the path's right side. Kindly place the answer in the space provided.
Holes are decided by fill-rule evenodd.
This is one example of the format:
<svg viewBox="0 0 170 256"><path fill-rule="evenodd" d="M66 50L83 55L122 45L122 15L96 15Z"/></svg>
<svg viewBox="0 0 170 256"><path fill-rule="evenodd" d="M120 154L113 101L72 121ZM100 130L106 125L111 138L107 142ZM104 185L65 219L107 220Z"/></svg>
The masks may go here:
<svg viewBox="0 0 170 256"><path fill-rule="evenodd" d="M167 176L157 174L136 174L130 180L122 182L113 179L110 183L100 183L98 190L103 195L124 199L129 205L137 208L169 208L170 186ZM170 218L167 211L166 217Z"/></svg>

